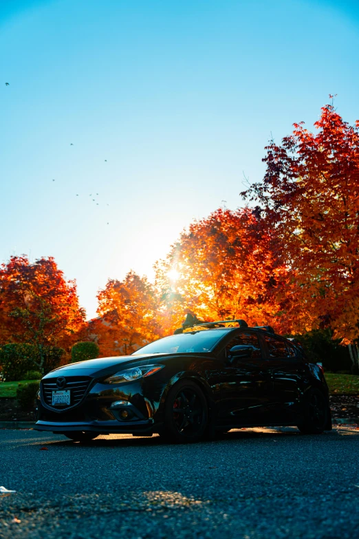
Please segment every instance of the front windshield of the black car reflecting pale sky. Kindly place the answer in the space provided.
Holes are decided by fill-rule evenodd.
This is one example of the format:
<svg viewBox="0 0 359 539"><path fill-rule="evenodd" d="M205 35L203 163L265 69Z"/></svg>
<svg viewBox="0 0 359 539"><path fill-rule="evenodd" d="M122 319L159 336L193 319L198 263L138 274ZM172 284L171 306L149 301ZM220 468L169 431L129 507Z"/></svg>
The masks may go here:
<svg viewBox="0 0 359 539"><path fill-rule="evenodd" d="M140 348L140 350L136 350L132 355L210 352L227 332L227 330L201 330L171 335L171 337L164 337L151 344L147 344L143 348Z"/></svg>

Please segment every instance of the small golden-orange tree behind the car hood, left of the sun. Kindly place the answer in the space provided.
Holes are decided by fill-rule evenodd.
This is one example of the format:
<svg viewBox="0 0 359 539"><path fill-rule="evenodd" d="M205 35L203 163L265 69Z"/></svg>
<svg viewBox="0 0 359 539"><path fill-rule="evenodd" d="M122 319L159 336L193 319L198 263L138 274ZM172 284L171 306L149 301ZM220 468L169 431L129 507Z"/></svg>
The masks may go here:
<svg viewBox="0 0 359 539"><path fill-rule="evenodd" d="M101 355L128 355L162 335L158 297L146 277L133 271L123 281L109 279L98 293L98 319L89 325Z"/></svg>

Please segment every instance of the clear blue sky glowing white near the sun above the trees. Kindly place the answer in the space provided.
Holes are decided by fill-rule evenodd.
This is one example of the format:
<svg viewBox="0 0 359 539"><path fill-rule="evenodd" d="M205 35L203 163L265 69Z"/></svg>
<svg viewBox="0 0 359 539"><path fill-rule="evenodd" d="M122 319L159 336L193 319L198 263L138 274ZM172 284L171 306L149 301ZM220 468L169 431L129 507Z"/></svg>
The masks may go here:
<svg viewBox="0 0 359 539"><path fill-rule="evenodd" d="M54 256L89 317L241 205L271 133L329 93L359 118L358 0L0 0L0 30L0 262Z"/></svg>

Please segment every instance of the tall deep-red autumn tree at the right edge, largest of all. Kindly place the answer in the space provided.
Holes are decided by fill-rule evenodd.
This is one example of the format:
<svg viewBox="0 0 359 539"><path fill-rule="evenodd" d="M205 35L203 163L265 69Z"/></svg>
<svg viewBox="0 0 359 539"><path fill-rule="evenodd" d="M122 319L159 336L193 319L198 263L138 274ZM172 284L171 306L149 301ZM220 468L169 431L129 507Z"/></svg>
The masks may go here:
<svg viewBox="0 0 359 539"><path fill-rule="evenodd" d="M312 313L303 331L330 326L359 337L359 121L351 126L325 105L317 131L294 124L270 142L263 182L241 193L257 204L263 231L278 237L276 257L293 275L296 316Z"/></svg>

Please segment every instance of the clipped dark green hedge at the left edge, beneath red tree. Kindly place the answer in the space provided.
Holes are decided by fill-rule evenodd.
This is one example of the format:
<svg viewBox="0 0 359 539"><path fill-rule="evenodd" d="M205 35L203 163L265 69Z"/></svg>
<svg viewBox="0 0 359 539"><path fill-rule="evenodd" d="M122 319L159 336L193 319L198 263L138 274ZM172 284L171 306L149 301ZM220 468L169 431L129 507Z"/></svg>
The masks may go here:
<svg viewBox="0 0 359 539"><path fill-rule="evenodd" d="M63 348L47 346L43 348L43 361L39 349L32 344L4 344L0 347L0 364L3 367L3 379L7 382L23 380L25 373L32 370L47 374L60 365ZM42 375L41 375L42 376Z"/></svg>

